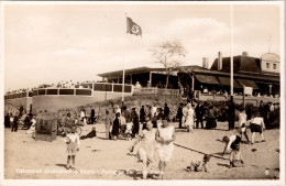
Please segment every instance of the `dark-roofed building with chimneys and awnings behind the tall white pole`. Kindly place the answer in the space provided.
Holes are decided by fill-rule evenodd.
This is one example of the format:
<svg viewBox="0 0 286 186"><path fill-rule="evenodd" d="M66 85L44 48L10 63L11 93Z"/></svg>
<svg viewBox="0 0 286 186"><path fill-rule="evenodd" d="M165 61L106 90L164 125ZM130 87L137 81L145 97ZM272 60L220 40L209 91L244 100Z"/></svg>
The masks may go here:
<svg viewBox="0 0 286 186"><path fill-rule="evenodd" d="M205 61L202 63L206 63ZM254 95L277 97L280 94L280 59L272 53L263 54L261 58L242 55L233 56L233 87L235 94L242 94L243 87L252 87ZM230 57L222 57L219 52L210 69L195 68L178 72L182 85L188 85L187 91L230 91Z"/></svg>

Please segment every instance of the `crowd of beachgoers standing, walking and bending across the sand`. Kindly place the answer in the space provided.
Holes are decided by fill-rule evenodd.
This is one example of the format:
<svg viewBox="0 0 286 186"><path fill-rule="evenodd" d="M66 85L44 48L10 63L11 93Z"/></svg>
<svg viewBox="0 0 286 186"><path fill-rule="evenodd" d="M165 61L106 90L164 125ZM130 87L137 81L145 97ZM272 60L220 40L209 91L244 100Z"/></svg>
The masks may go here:
<svg viewBox="0 0 286 186"><path fill-rule="evenodd" d="M271 111L275 110L274 106L268 102L267 105L261 105L260 112L252 114L241 109L239 113L239 124L234 134L230 136L223 136L222 141L226 143L226 147L222 152L222 156L229 153L230 167L243 166L244 160L241 152L242 135L245 136L246 143L253 145L255 143L255 134L260 133L261 141L265 142L265 116L270 118ZM68 112L58 123L58 134L65 138L67 145L67 168L75 168L76 154L79 151L80 140L87 138L97 136L96 127L86 134L81 135L77 133L77 125L95 124L97 121L95 108L90 107L89 117L82 107L79 112L79 117L72 119ZM264 117L262 114L264 114ZM19 121L23 119L21 129L29 129L28 134L35 136L36 120L32 113L25 113L24 111L18 112L15 116L7 113L4 118L6 127L10 127L12 132L16 132L19 128ZM187 132L194 132L195 129L216 129L217 128L217 109L210 105L206 107L202 102L197 102L195 106L191 101L186 103L182 102L178 106L176 118L170 118L170 109L165 102L164 106L158 107L143 105L138 111L136 107L131 107L131 110L123 106L120 108L116 105L112 110L106 110L105 125L106 125L106 140L118 139L135 139L134 143L129 147L130 152L134 151L134 146L140 143L138 149L139 161L142 162L143 178L147 177L148 166L154 162L155 154L158 162L158 178L164 178L167 163L170 161L174 151L175 127L170 124L170 121L178 121L179 129L186 129ZM205 122L206 121L206 124ZM68 130L67 130L68 129ZM252 135L251 139L248 135L250 129ZM156 153L155 153L156 152ZM210 155L205 154L202 160L196 160L190 162L188 171L195 172L208 172L207 164L210 161Z"/></svg>

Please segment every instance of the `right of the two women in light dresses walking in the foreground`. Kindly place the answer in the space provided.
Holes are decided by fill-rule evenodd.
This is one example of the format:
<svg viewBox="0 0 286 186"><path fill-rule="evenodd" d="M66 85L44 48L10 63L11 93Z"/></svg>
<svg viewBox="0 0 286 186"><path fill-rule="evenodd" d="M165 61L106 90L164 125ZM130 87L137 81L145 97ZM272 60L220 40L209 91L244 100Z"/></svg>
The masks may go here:
<svg viewBox="0 0 286 186"><path fill-rule="evenodd" d="M167 162L169 162L175 141L175 128L174 125L169 125L166 119L162 120L162 125L158 124L157 133L156 133L156 142L157 142L157 153L158 153L158 169L161 179L164 178L165 167Z"/></svg>

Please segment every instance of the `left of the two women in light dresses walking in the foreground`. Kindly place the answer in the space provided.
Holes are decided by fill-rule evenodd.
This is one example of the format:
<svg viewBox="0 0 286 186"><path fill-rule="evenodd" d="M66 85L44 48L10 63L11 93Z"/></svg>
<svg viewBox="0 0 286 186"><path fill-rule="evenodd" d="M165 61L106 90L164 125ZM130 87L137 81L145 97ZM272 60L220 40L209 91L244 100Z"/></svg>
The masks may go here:
<svg viewBox="0 0 286 186"><path fill-rule="evenodd" d="M156 139L156 129L153 129L153 123L148 121L146 123L146 130L144 129L142 133L140 133L139 139L129 147L130 152L133 152L134 146L141 141L141 146L139 147L138 155L139 161L143 162L143 179L147 178L147 168L150 163L154 160L154 151L155 151L155 139Z"/></svg>

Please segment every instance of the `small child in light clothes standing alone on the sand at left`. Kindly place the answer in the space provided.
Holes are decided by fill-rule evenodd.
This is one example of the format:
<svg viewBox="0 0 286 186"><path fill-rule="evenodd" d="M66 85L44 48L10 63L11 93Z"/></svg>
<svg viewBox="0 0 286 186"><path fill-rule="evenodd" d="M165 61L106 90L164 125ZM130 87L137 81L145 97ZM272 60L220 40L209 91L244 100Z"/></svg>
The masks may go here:
<svg viewBox="0 0 286 186"><path fill-rule="evenodd" d="M76 153L79 151L79 135L76 133L76 127L72 127L72 133L66 135L65 142L67 144L67 168L75 169ZM73 161L73 166L70 166L70 158Z"/></svg>

